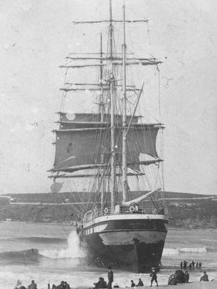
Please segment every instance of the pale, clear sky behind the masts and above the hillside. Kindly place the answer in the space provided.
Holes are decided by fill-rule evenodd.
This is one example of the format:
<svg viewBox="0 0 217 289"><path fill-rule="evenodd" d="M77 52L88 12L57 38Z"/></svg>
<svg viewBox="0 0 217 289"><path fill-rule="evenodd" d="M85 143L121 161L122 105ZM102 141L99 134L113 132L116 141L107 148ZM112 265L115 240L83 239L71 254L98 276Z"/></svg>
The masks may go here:
<svg viewBox="0 0 217 289"><path fill-rule="evenodd" d="M73 29L72 21L108 19L108 3L0 1L0 194L50 192L51 131L64 81L58 67L71 51L98 49L100 28ZM113 0L114 18L122 17L122 3ZM127 45L164 62L160 80L167 191L216 194L216 6L215 0L126 0L126 19L149 19L150 30L148 39L145 25L129 27ZM72 109L85 111L82 97Z"/></svg>

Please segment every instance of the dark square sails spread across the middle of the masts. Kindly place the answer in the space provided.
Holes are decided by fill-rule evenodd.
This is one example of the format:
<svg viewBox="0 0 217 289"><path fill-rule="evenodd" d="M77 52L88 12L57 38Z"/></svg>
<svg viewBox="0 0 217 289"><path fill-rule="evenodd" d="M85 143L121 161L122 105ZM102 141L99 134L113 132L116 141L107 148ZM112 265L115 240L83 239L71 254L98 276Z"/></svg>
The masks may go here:
<svg viewBox="0 0 217 289"><path fill-rule="evenodd" d="M131 116L128 116L128 121ZM122 164L121 116L117 115L115 128L115 154L117 165ZM118 120L120 122L118 122ZM128 167L138 167L139 154L148 154L158 159L156 150L159 124L138 124L133 119L128 130ZM54 171L76 170L109 165L111 159L111 131L109 115L100 122L98 114L60 114L60 128L56 132L56 155ZM151 163L151 162L150 162ZM146 163L148 164L148 163Z"/></svg>

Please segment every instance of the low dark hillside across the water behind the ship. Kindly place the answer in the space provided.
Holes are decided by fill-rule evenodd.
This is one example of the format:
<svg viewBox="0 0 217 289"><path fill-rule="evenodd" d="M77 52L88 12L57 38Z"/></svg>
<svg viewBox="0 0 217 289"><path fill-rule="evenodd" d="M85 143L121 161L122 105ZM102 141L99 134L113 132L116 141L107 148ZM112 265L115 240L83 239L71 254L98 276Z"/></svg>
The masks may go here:
<svg viewBox="0 0 217 289"><path fill-rule="evenodd" d="M73 194L11 194L7 195L8 198L1 196L0 220L71 223L72 220L76 220L78 213L82 213L82 206L79 203L81 199L87 201L90 197L85 192L80 194L78 192ZM137 192L136 195L140 194ZM214 198L196 200L196 197L203 198L207 195L165 193L165 198L172 198L171 201L167 200L170 227L190 229L217 227L216 200Z"/></svg>

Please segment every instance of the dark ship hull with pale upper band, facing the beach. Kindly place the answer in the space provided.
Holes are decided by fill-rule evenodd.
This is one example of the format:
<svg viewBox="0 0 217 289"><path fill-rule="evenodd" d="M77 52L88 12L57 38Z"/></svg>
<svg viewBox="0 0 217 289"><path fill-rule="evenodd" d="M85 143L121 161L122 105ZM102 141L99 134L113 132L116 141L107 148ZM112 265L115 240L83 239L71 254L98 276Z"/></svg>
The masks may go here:
<svg viewBox="0 0 217 289"><path fill-rule="evenodd" d="M168 220L163 215L119 215L96 218L82 230L89 264L136 273L159 267Z"/></svg>

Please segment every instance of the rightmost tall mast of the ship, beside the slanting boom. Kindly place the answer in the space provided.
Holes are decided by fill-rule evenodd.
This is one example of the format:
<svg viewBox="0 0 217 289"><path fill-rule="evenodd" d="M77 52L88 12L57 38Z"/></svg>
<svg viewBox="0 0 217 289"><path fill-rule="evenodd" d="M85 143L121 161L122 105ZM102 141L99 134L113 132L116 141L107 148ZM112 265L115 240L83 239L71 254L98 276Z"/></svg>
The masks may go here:
<svg viewBox="0 0 217 289"><path fill-rule="evenodd" d="M123 143L122 143L122 195L123 201L126 201L127 189L127 165L126 165L126 34L125 34L125 1L123 6L123 24L124 24L124 43L122 45L123 53Z"/></svg>

